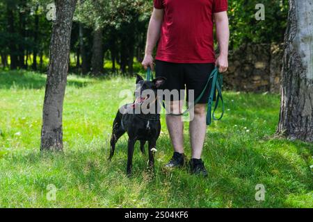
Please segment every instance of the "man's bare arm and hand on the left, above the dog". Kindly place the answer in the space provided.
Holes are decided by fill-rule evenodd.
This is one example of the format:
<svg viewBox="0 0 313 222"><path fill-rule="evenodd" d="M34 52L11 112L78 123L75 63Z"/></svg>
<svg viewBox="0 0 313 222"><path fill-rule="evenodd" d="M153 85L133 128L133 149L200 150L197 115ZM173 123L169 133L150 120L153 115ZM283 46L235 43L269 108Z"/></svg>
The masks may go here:
<svg viewBox="0 0 313 222"><path fill-rule="evenodd" d="M157 41L160 37L161 24L163 20L163 9L154 8L152 16L150 19L148 31L147 31L147 44L145 46L145 58L143 59L142 65L145 69L148 66L153 69L153 57L152 52L154 46L157 44Z"/></svg>

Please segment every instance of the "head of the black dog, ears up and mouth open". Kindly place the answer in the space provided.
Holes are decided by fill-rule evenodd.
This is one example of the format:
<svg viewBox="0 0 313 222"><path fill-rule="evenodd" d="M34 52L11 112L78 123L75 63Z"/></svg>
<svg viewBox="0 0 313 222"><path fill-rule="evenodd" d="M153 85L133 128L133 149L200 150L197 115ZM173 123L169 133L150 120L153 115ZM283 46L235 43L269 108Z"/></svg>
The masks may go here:
<svg viewBox="0 0 313 222"><path fill-rule="evenodd" d="M157 77L152 81L143 80L143 77L136 74L136 90L135 90L135 104L142 105L145 101L154 96L152 101L157 99L157 90L163 85L166 78Z"/></svg>

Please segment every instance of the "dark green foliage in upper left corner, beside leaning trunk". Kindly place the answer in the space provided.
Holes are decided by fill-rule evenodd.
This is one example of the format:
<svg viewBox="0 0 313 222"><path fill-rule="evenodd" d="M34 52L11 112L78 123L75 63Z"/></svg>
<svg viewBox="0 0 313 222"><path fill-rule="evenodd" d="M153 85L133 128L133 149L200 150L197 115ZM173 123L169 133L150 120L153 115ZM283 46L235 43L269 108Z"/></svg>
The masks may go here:
<svg viewBox="0 0 313 222"><path fill-rule="evenodd" d="M49 53L51 23L45 17L48 2L47 0L6 0L0 2L1 56L17 55L32 58L31 54L35 49L42 52L42 55ZM8 17L10 10L13 12L12 19ZM35 28L35 17L39 19L38 28ZM13 26L13 31L9 30L9 24ZM34 33L38 33L37 41L35 41ZM9 47L11 42L17 47L15 51ZM28 62L25 64L27 67Z"/></svg>

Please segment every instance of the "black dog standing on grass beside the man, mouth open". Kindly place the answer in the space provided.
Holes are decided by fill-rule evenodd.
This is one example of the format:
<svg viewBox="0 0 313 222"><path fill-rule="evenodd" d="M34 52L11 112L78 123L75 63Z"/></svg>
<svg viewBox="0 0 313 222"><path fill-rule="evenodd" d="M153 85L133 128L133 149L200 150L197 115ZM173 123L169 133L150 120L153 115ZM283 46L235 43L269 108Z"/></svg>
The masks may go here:
<svg viewBox="0 0 313 222"><path fill-rule="evenodd" d="M165 78L159 77L152 81L145 81L141 76L137 75L135 92L136 100L132 104L123 105L114 119L109 160L111 160L114 155L116 142L118 142L118 139L127 132L129 137L127 174L129 176L131 175L134 145L137 140L140 140L141 142L142 153L145 153L145 142L148 142L149 165L152 169L154 168L153 148L155 148L161 132L160 115L157 105L157 89L163 85L165 80ZM148 91L144 91L146 89L148 89ZM147 96L143 97L145 92L149 93ZM152 98L153 96L150 96L151 93L154 98ZM154 112L142 112L143 104L146 105L146 108L152 108Z"/></svg>

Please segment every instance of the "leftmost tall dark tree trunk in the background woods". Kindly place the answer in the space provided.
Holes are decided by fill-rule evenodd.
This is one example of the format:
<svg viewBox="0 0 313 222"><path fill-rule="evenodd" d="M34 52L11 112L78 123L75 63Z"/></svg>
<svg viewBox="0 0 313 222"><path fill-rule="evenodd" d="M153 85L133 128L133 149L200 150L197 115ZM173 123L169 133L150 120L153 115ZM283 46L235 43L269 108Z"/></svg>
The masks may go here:
<svg viewBox="0 0 313 222"><path fill-rule="evenodd" d="M15 26L14 26L14 14L13 8L7 6L8 13L8 32L10 33L10 69L17 69L17 46L15 44Z"/></svg>

